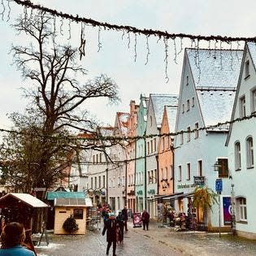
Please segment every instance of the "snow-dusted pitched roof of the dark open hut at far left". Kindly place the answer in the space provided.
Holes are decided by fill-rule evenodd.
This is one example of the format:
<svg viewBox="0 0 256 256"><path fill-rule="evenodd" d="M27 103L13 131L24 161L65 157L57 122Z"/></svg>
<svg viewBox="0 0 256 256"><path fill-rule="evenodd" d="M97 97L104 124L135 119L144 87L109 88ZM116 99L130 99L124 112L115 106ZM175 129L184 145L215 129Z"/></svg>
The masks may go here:
<svg viewBox="0 0 256 256"><path fill-rule="evenodd" d="M5 196L0 198L0 203L7 200L7 197L14 197L15 199L24 202L28 206L33 206L34 208L48 207L46 203L42 202L37 197L33 197L29 193L7 193Z"/></svg>

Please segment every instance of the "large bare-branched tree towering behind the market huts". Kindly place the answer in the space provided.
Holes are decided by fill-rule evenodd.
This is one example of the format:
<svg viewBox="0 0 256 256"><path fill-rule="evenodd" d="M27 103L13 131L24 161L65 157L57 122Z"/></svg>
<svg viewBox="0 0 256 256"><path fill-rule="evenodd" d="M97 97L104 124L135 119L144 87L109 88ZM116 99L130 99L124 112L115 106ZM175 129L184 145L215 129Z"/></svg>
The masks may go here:
<svg viewBox="0 0 256 256"><path fill-rule="evenodd" d="M85 80L86 70L77 63L78 50L56 43L53 17L39 12L32 19L20 17L13 26L18 33L29 39L29 46L12 46L11 50L14 63L24 79L33 81L31 89L24 89L25 96L32 101L28 121L31 121L31 115L39 121L32 124L28 122L23 127L22 122L15 123L21 133L16 137L16 143L15 137L6 137L1 150L5 154L2 155L7 159L7 153L13 154L9 155L7 162L2 158L2 163L16 163L13 172L19 164L29 164L27 176L24 176L24 179L28 179L24 190L28 192L33 187L50 188L56 179L65 175L68 152L77 145L67 140L68 132L93 131L94 123L89 119L88 112L79 111L83 103L92 98L108 98L110 102L116 102L119 98L117 85L106 75L81 82ZM18 115L16 121L17 118ZM12 145L16 145L16 150L11 150L11 141ZM96 145L93 141L83 144L85 148L93 145ZM19 182L22 184L21 178Z"/></svg>

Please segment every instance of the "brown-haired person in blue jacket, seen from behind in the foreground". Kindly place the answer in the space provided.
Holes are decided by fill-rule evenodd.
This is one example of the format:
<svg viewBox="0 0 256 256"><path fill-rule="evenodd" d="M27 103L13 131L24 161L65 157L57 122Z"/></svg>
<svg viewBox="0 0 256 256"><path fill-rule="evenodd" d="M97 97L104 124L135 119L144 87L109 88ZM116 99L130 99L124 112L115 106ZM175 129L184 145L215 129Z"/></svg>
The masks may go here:
<svg viewBox="0 0 256 256"><path fill-rule="evenodd" d="M34 252L25 248L24 225L17 222L8 223L2 230L0 256L35 256Z"/></svg>

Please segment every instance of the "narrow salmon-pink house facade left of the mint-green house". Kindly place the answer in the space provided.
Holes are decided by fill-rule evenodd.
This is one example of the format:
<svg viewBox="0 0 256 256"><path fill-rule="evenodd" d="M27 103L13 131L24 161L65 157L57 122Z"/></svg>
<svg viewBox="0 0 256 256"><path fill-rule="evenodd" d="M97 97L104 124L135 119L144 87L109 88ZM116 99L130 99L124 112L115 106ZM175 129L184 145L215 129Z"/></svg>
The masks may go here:
<svg viewBox="0 0 256 256"><path fill-rule="evenodd" d="M130 102L130 113L128 118L128 137L137 136L137 111L139 106L135 101ZM128 141L126 146L128 162L127 162L127 175L126 175L126 190L127 190L127 206L136 210L136 196L135 196L135 157L136 157L136 140Z"/></svg>

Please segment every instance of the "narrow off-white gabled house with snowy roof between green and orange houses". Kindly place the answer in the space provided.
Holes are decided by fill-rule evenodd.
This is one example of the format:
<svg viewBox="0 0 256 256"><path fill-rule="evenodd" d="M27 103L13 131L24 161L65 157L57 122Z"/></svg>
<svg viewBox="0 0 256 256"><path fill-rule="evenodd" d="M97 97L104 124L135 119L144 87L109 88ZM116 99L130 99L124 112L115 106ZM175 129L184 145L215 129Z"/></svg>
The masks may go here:
<svg viewBox="0 0 256 256"><path fill-rule="evenodd" d="M146 143L146 209L150 218L158 216L158 141L163 118L164 106L176 105L178 97L171 94L150 93L147 123L145 128Z"/></svg>

